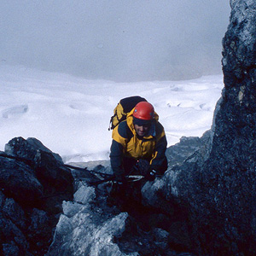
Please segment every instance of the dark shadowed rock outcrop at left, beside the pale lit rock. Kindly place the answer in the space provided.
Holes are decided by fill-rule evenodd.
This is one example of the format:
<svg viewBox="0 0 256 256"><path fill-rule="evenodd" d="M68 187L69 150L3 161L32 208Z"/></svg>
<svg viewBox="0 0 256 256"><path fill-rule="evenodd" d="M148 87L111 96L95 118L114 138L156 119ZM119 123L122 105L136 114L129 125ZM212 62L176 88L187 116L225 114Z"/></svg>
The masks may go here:
<svg viewBox="0 0 256 256"><path fill-rule="evenodd" d="M73 200L73 176L61 157L35 138L17 137L0 152L0 255L44 255Z"/></svg>

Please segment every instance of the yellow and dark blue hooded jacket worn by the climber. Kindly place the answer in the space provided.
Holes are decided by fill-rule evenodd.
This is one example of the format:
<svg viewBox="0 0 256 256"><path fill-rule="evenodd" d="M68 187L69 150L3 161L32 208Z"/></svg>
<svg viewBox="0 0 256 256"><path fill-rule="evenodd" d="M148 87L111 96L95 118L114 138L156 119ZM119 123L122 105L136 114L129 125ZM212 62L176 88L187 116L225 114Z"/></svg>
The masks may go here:
<svg viewBox="0 0 256 256"><path fill-rule="evenodd" d="M110 153L111 166L116 174L124 174L123 158L149 161L152 169L166 171L166 134L158 121L159 116L154 113L154 121L143 138L137 137L133 125L133 111L127 114L125 121L113 129ZM163 170L165 169L165 170Z"/></svg>

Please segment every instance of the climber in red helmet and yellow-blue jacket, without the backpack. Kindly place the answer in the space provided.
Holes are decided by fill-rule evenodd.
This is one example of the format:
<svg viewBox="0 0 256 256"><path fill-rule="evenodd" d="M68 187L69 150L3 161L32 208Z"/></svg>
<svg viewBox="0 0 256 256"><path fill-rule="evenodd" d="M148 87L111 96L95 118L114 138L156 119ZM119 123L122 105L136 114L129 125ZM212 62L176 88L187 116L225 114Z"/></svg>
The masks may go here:
<svg viewBox="0 0 256 256"><path fill-rule="evenodd" d="M153 181L166 172L166 134L158 119L149 102L139 102L113 129L110 162L119 184L128 175Z"/></svg>

